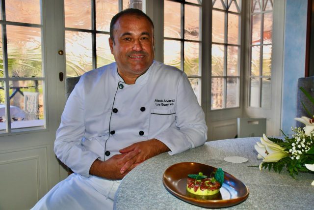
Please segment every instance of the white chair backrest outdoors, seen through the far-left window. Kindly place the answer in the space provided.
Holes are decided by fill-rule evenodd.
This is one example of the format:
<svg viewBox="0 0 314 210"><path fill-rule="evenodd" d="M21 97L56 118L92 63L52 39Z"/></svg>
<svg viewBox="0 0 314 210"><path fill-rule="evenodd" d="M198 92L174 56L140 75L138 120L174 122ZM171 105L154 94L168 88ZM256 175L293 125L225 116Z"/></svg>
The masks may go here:
<svg viewBox="0 0 314 210"><path fill-rule="evenodd" d="M39 107L38 107L38 92L24 91L24 112L25 120L38 120Z"/></svg>

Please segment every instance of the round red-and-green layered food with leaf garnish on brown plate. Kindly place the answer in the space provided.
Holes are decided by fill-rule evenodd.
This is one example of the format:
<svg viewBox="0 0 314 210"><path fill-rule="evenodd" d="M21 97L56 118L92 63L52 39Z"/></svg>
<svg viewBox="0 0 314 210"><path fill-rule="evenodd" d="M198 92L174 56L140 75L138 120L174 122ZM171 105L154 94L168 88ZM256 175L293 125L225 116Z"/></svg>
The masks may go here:
<svg viewBox="0 0 314 210"><path fill-rule="evenodd" d="M214 174L214 177L203 175L202 172L187 175L186 190L194 195L202 196L218 193L224 181L224 172L218 168Z"/></svg>

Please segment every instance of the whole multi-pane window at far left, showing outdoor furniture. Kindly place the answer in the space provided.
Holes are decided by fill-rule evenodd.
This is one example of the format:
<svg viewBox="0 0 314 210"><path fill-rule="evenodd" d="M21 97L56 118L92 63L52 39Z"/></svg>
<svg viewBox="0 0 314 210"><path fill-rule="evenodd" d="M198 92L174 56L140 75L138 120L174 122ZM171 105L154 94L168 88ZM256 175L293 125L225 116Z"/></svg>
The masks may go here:
<svg viewBox="0 0 314 210"><path fill-rule="evenodd" d="M0 6L0 133L43 128L41 0L1 0Z"/></svg>

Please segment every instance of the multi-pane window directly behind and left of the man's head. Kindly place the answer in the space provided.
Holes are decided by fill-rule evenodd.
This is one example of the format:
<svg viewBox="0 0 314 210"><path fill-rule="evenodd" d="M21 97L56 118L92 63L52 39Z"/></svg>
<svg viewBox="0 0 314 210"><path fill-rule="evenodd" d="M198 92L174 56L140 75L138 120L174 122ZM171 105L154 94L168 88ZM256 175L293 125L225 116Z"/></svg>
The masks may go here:
<svg viewBox="0 0 314 210"><path fill-rule="evenodd" d="M64 0L67 77L114 62L108 44L111 18L142 0Z"/></svg>

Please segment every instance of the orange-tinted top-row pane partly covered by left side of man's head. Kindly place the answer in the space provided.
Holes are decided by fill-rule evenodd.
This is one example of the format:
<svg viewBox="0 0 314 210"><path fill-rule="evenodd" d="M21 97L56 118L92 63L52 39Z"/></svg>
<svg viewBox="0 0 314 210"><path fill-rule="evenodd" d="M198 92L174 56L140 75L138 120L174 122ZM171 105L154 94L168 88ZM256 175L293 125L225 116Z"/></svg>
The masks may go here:
<svg viewBox="0 0 314 210"><path fill-rule="evenodd" d="M96 30L109 31L111 18L118 12L117 0L96 0Z"/></svg>

